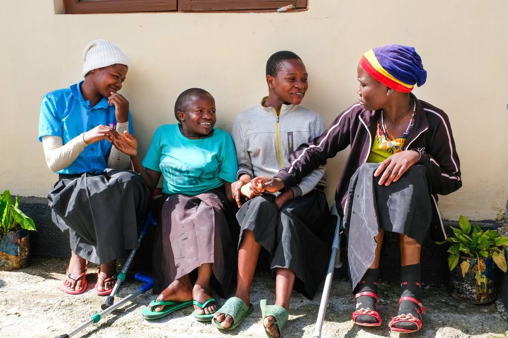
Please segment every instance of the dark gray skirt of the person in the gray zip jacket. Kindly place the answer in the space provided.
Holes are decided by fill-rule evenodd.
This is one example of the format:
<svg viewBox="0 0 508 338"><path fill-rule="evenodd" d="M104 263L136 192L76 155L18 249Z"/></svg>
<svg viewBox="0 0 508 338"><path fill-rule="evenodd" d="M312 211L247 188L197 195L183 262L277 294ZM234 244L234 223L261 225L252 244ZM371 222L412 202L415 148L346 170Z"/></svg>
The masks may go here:
<svg viewBox="0 0 508 338"><path fill-rule="evenodd" d="M240 239L245 230L268 251L270 268L290 269L295 290L312 298L330 260L334 225L325 194L317 189L286 203L279 211L275 196L263 194L247 201L237 212Z"/></svg>

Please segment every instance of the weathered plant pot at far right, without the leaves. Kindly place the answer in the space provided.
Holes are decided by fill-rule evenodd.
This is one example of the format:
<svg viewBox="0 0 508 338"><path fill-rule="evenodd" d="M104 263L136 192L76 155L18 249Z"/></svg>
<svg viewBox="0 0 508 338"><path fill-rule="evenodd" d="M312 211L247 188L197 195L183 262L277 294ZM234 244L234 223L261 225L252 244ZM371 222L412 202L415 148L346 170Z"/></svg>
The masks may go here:
<svg viewBox="0 0 508 338"><path fill-rule="evenodd" d="M460 265L463 261L469 259L469 270L465 277L462 277ZM478 259L460 256L459 264L453 269L450 275L450 287L452 296L460 301L470 304L487 304L496 299L496 275L498 268L494 264L492 257L480 258L485 265L485 270L481 271L480 282L474 276L478 272Z"/></svg>

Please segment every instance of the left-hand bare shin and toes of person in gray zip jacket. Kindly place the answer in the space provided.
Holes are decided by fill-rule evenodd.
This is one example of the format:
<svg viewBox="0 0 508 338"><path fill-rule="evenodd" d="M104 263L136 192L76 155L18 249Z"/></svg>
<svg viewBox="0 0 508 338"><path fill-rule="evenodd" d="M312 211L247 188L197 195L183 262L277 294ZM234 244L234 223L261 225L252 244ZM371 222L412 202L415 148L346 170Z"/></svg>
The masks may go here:
<svg viewBox="0 0 508 338"><path fill-rule="evenodd" d="M250 285L256 271L260 251L261 245L256 242L254 233L250 230L245 230L240 249L238 250L238 281L235 296L242 299L247 306L250 303ZM231 316L226 317L219 312L215 313L214 318L224 328L230 327L233 323Z"/></svg>

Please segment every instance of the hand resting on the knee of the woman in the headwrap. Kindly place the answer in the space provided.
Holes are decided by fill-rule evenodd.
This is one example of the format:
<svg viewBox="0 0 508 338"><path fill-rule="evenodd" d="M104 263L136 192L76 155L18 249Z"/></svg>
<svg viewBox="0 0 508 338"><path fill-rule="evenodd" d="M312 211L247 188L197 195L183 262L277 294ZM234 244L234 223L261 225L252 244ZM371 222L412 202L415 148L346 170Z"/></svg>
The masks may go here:
<svg viewBox="0 0 508 338"><path fill-rule="evenodd" d="M407 171L407 169L418 162L419 158L420 154L412 150L405 150L403 152L393 154L388 159L381 162L374 172L374 176L376 177L383 173L379 178L378 184L388 186L390 183L396 182L400 176Z"/></svg>

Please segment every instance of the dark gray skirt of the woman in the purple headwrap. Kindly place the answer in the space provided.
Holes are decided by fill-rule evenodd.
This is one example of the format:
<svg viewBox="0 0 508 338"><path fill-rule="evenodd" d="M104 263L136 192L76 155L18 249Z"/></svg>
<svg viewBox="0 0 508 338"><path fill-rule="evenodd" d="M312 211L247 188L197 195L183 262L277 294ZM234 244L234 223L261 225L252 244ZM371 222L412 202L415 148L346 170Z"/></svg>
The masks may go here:
<svg viewBox="0 0 508 338"><path fill-rule="evenodd" d="M425 166L410 167L397 182L379 185L374 177L378 163L365 163L350 181L344 228L347 236L348 273L353 290L375 256L374 237L385 230L422 244L432 219L430 179Z"/></svg>

